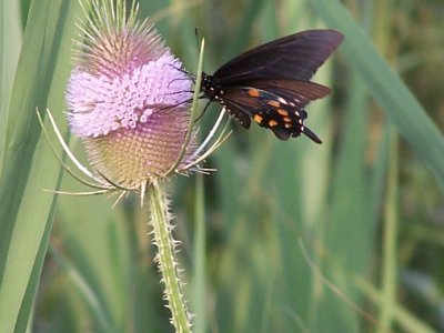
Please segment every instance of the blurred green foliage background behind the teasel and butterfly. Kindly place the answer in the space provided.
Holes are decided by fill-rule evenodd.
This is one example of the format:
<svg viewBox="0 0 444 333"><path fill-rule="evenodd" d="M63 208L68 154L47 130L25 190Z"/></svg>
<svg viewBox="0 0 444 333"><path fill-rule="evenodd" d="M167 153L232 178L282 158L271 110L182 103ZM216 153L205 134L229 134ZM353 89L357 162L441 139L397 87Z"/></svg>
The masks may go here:
<svg viewBox="0 0 444 333"><path fill-rule="evenodd" d="M233 123L218 172L169 183L195 332L444 332L444 2L141 2L191 72L195 29L208 73L295 31L345 36L313 79L333 90L307 108L322 145ZM43 192L85 190L34 112L68 133L77 1L0 3L0 331L173 332L138 198Z"/></svg>

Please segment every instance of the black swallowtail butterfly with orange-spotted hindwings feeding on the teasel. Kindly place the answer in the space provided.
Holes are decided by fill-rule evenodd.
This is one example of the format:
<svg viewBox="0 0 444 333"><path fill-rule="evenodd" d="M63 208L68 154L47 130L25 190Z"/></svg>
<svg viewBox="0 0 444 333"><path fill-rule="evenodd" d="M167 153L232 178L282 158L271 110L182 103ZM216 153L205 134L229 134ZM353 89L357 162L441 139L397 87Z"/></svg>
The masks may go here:
<svg viewBox="0 0 444 333"><path fill-rule="evenodd" d="M304 107L330 89L310 79L342 39L334 30L309 30L265 43L226 62L213 75L203 73L201 92L225 107L245 129L252 118L281 140L304 133L321 143L304 125Z"/></svg>

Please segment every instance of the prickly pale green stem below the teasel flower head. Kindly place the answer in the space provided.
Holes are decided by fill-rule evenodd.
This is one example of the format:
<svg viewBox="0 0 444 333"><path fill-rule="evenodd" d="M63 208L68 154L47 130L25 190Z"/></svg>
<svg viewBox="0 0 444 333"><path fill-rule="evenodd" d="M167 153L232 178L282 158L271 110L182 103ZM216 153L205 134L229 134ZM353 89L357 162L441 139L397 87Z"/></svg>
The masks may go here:
<svg viewBox="0 0 444 333"><path fill-rule="evenodd" d="M158 246L157 262L165 284L165 299L171 310L172 323L175 332L191 332L185 300L179 280L178 262L175 260L175 241L172 235L173 226L168 211L168 199L163 184L153 181L148 191L148 201L151 211L153 242Z"/></svg>

